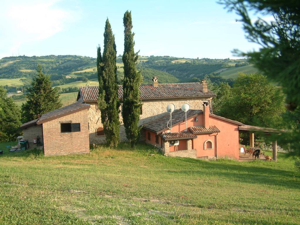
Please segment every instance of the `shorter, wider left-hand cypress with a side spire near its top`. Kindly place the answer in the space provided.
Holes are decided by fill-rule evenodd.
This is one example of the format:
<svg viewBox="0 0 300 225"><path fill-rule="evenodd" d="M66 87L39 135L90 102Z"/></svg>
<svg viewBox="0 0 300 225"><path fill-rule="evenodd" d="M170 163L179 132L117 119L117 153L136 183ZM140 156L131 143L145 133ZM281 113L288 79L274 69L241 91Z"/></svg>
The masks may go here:
<svg viewBox="0 0 300 225"><path fill-rule="evenodd" d="M117 84L117 50L115 36L107 19L104 31L104 49L97 49L97 71L99 80L98 107L101 111L101 122L110 147L116 147L120 142L120 121Z"/></svg>

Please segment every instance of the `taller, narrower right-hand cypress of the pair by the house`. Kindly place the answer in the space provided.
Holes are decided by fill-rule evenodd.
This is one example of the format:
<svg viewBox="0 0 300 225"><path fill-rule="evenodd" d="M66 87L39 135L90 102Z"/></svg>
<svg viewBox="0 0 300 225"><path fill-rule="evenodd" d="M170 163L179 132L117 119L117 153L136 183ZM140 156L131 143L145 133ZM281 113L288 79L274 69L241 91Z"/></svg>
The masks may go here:
<svg viewBox="0 0 300 225"><path fill-rule="evenodd" d="M138 53L134 52L134 33L132 29L131 11L124 14L124 54L122 57L124 63L124 81L123 81L123 123L126 131L126 137L131 143L131 147L137 143L140 138L140 90L142 75L137 72Z"/></svg>

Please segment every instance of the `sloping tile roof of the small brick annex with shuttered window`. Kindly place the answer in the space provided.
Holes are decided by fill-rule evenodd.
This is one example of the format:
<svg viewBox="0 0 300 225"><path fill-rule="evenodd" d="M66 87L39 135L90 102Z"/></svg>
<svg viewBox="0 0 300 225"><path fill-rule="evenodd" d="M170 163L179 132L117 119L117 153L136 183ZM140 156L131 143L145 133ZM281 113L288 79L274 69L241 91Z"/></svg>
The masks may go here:
<svg viewBox="0 0 300 225"><path fill-rule="evenodd" d="M41 116L40 119L38 119L37 124L42 124L44 122L48 122L53 119L60 118L62 116L69 115L71 113L76 113L84 109L88 109L90 107L89 104L81 103L81 102L75 102L74 104L62 107L57 110L50 111L49 113L45 113Z"/></svg>

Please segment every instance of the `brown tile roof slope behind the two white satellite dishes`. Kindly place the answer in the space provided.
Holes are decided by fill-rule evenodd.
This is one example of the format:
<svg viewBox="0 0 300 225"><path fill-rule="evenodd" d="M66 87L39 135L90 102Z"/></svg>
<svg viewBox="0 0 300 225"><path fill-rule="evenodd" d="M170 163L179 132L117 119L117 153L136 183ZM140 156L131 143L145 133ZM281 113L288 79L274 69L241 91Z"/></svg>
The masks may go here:
<svg viewBox="0 0 300 225"><path fill-rule="evenodd" d="M202 110L188 110L187 111L187 119L190 117L193 117L195 115L198 115L202 113ZM162 113L162 116L154 119L151 122L146 122L142 126L143 128L154 131L157 134L168 130L167 123L170 120L170 114L169 113ZM172 127L178 123L185 121L185 113L182 110L174 110L172 113ZM170 126L170 124L169 124Z"/></svg>

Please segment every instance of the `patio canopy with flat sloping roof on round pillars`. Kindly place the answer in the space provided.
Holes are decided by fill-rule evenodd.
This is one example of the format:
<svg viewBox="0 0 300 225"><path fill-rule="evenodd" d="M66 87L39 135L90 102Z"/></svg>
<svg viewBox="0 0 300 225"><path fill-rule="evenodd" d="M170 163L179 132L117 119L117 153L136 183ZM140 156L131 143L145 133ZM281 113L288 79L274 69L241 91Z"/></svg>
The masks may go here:
<svg viewBox="0 0 300 225"><path fill-rule="evenodd" d="M254 132L261 132L265 134L281 134L284 130L278 130L273 128L264 128L264 127L256 127L250 125L242 125L238 127L240 131L250 131L250 148L254 147ZM273 152L273 160L277 161L277 140L272 142L272 152Z"/></svg>

